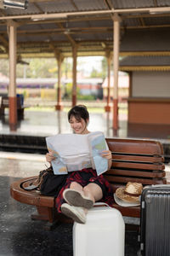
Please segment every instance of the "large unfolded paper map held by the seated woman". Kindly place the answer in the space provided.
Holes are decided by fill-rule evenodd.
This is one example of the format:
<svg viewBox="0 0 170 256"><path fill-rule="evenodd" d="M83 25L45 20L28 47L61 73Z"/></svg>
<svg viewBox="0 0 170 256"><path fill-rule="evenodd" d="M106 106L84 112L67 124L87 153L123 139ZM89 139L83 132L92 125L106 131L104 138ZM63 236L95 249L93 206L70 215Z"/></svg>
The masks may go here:
<svg viewBox="0 0 170 256"><path fill-rule="evenodd" d="M106 149L104 134L95 131L88 134L59 134L46 138L48 151L56 160L52 161L54 174L66 174L93 167L97 174L107 171L108 161L101 157Z"/></svg>

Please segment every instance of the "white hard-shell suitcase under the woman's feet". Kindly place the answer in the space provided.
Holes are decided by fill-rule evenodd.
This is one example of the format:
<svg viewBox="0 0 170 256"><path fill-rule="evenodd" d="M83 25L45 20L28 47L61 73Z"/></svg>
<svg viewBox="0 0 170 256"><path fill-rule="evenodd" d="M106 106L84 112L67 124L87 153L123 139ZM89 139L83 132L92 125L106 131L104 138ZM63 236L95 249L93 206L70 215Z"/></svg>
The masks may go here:
<svg viewBox="0 0 170 256"><path fill-rule="evenodd" d="M74 256L124 256L125 224L111 207L93 207L86 224L73 225Z"/></svg>

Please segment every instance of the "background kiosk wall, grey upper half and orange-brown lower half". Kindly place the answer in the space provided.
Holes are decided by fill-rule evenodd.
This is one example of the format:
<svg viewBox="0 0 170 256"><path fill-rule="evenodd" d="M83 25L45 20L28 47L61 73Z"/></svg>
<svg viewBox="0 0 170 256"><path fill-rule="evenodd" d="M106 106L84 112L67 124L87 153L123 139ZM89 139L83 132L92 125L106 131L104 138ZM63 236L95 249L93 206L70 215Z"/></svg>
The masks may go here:
<svg viewBox="0 0 170 256"><path fill-rule="evenodd" d="M133 72L127 102L129 124L170 125L170 72Z"/></svg>

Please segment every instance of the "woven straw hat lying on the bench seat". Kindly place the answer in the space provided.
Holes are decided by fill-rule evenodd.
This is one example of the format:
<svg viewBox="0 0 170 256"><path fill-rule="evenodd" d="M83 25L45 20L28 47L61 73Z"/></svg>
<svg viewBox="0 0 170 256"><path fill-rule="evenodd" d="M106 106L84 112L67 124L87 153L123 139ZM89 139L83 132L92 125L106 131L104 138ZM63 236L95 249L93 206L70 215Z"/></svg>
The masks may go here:
<svg viewBox="0 0 170 256"><path fill-rule="evenodd" d="M139 203L139 196L142 194L142 183L128 182L125 187L116 189L116 197L129 203Z"/></svg>

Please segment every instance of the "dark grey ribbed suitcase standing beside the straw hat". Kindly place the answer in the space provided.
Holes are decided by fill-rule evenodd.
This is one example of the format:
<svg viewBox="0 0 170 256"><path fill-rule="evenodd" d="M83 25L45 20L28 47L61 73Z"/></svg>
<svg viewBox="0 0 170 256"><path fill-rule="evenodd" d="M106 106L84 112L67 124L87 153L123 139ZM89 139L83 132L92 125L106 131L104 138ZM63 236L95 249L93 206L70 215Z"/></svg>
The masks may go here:
<svg viewBox="0 0 170 256"><path fill-rule="evenodd" d="M142 192L141 254L170 256L170 185L148 186Z"/></svg>

